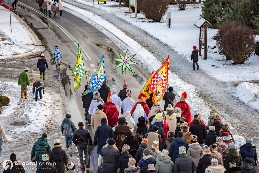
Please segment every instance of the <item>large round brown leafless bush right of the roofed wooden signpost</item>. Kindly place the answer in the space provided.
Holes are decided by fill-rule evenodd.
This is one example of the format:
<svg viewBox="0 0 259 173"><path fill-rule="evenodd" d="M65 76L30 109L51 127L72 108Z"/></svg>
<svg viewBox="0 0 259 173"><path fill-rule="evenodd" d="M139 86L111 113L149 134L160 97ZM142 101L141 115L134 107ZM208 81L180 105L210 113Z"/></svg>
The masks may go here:
<svg viewBox="0 0 259 173"><path fill-rule="evenodd" d="M232 64L243 64L255 50L254 31L243 23L230 22L219 26L217 33L219 51Z"/></svg>

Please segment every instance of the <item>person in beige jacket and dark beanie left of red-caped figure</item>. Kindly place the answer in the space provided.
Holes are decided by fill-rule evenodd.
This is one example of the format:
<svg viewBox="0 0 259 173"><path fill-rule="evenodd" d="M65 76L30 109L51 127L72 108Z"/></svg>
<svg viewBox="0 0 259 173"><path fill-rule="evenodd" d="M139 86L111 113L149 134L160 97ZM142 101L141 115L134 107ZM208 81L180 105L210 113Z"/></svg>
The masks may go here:
<svg viewBox="0 0 259 173"><path fill-rule="evenodd" d="M101 125L102 118L107 119L106 114L103 112L103 108L104 108L103 105L99 104L97 106L97 108L98 109L96 109L92 115L92 121L91 121L92 128L95 131L96 131L97 127ZM108 122L107 122L107 125L109 125Z"/></svg>

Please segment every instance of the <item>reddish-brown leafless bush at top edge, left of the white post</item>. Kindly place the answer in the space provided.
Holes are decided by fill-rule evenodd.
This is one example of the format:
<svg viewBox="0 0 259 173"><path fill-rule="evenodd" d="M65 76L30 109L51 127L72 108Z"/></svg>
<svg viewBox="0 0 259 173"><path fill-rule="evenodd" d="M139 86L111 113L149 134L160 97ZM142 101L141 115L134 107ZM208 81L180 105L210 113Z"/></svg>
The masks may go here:
<svg viewBox="0 0 259 173"><path fill-rule="evenodd" d="M160 22L168 10L168 5L168 0L143 0L142 11L147 18Z"/></svg>

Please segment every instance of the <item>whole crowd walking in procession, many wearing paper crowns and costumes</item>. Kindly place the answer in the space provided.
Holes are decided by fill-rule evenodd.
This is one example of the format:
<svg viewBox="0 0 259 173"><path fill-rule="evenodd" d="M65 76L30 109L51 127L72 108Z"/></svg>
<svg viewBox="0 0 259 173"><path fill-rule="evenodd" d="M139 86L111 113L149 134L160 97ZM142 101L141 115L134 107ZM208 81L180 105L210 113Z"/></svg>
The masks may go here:
<svg viewBox="0 0 259 173"><path fill-rule="evenodd" d="M86 85L85 91L87 89ZM211 109L206 125L200 114L191 118L185 92L180 102L172 106L175 98L172 90L169 87L164 94L163 100L169 104L162 109L159 102L147 104L150 100L145 100L143 93L135 103L126 83L118 95L116 89L110 92L103 83L98 92L82 96L85 121L95 131L93 141L84 123L79 122L77 129L67 114L61 123L66 149L73 149L74 143L80 168L85 170L85 167L90 167L88 146L97 147L98 167L105 173L259 172L259 158L256 147L252 145L253 139L247 138L238 152L229 126L222 124L217 110ZM8 142L2 126L0 130L0 137ZM14 155L11 154L10 160L17 162ZM31 160L37 160L36 172L63 173L65 169L76 172L75 164L68 161L60 139L55 139L54 147L51 147L47 134L34 143ZM46 167L49 169L46 170ZM15 172L12 169L7 171ZM24 172L21 167L19 170Z"/></svg>

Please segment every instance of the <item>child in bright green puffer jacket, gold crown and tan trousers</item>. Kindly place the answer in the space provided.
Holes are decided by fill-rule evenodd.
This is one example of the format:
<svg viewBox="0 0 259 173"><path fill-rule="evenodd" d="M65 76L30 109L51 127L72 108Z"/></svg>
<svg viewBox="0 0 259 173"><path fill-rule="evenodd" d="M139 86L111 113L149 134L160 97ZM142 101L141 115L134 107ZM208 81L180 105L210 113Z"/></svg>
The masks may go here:
<svg viewBox="0 0 259 173"><path fill-rule="evenodd" d="M28 70L29 68L25 68L23 72L19 75L18 79L18 85L21 85L21 98L23 98L23 92L24 92L24 98L27 98L27 86L30 85L29 76L28 76Z"/></svg>

